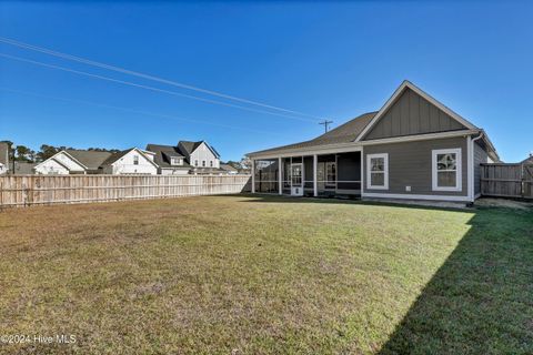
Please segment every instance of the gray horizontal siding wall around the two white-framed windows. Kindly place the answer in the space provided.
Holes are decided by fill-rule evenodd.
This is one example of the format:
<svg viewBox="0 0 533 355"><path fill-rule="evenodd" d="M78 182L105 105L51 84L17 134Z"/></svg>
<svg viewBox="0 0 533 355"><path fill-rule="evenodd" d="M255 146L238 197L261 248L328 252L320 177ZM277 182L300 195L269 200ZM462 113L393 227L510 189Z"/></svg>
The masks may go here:
<svg viewBox="0 0 533 355"><path fill-rule="evenodd" d="M461 192L433 191L432 150L461 149ZM364 192L419 195L467 195L467 149L466 138L449 138L416 142L365 145L363 150ZM366 155L389 154L389 190L366 189ZM411 192L405 191L411 186Z"/></svg>

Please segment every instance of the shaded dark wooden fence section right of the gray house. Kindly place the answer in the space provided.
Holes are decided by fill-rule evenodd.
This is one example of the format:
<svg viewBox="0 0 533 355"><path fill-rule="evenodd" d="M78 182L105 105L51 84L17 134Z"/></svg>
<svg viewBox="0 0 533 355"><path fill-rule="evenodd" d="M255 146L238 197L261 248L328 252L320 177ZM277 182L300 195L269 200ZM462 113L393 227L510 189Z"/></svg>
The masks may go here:
<svg viewBox="0 0 533 355"><path fill-rule="evenodd" d="M482 164L481 194L533 199L533 164Z"/></svg>

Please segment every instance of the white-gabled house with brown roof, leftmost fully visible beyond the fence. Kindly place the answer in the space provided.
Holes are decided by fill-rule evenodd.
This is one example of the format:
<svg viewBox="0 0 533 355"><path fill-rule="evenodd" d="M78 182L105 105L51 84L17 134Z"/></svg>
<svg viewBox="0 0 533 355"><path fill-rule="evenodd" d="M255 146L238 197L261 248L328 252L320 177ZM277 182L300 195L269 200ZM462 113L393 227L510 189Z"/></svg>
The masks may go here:
<svg viewBox="0 0 533 355"><path fill-rule="evenodd" d="M110 152L64 150L42 161L34 168L36 174L98 174Z"/></svg>

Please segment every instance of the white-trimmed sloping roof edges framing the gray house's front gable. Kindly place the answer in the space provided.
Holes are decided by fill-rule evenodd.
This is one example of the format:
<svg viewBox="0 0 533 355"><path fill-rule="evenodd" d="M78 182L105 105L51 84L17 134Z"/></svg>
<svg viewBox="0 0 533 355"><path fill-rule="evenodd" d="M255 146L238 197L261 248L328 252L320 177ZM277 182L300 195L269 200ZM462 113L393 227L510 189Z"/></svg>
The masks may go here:
<svg viewBox="0 0 533 355"><path fill-rule="evenodd" d="M408 89L411 89L412 91L414 91L415 93L418 93L419 95L428 100L431 104L435 105L438 109L440 109L441 111L446 113L449 116L451 116L453 120L464 125L466 129L479 130L479 128L476 128L473 123L465 120L464 118L462 118L461 115L459 115L457 113L455 113L454 111L452 111L451 109L442 104L440 101L438 101L436 99L434 99L433 97L431 97L430 94L421 90L419 87L416 87L415 84L413 84L408 80L404 80L402 84L394 91L392 97L389 98L389 100L386 100L385 104L383 104L380 111L378 111L378 113L374 115L372 121L370 121L370 123L359 134L359 136L355 139L356 142L361 141L366 136L366 134L370 133L371 129L380 121L380 119L389 111L389 109L394 104L394 102L396 102L396 100L401 97L401 94Z"/></svg>

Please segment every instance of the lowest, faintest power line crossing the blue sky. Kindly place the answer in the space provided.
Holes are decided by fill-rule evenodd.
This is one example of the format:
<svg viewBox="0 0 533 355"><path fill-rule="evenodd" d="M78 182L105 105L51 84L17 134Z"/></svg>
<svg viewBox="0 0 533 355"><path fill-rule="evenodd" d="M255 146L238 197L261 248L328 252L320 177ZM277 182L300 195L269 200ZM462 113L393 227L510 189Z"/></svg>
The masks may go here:
<svg viewBox="0 0 533 355"><path fill-rule="evenodd" d="M140 111L140 110L133 110L133 109L114 106L114 105L109 105L109 104L99 103L99 102L92 102L92 101L86 101L86 100L77 100L77 99L68 99L68 98L52 97L52 95L46 95L46 94L41 94L41 93L37 93L37 92L14 90L14 89L2 88L2 87L0 87L0 90L2 90L2 91L8 91L8 92L12 92L12 93L18 93L18 94L24 94L24 95L43 98L43 99L52 99L52 100L60 100L60 101L66 101L66 102L89 104L89 105L94 105L94 106L100 106L100 108L105 108L105 109L113 109L113 110L119 110L119 111L124 111L124 112L131 112L131 113L138 113L138 114L143 114L143 115L151 115L151 116L157 116L157 118L162 118L162 119L170 119L170 120L178 120L178 121L184 121L184 122L192 122L192 123L215 125L215 126L221 126L221 128L227 128L227 129L233 129L233 130L240 130L240 131L248 131L248 132L254 132L254 133L262 133L262 134L272 134L272 135L276 135L276 134L278 134L278 133L275 133L275 132L268 132L268 131L261 131L261 130L254 130L254 129L247 129L247 128L240 128L240 126L230 125L230 124L222 124L222 123L211 123L211 122L205 122L205 121L201 121L201 120L185 119L185 118L179 118L179 116L173 116L173 115L168 115L168 114L153 113L153 112Z"/></svg>

